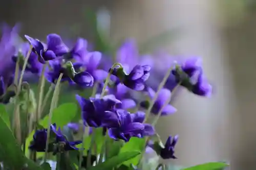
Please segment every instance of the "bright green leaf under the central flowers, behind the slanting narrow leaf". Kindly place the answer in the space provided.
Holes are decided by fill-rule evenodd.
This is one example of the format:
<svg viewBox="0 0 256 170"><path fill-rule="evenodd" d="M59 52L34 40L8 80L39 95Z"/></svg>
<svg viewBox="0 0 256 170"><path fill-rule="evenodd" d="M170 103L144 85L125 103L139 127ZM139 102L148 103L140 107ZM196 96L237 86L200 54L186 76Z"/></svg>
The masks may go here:
<svg viewBox="0 0 256 170"><path fill-rule="evenodd" d="M124 152L127 152L127 151L142 152L142 150L144 149L144 145L145 145L145 138L132 137L129 142L127 142L123 145L123 147L121 148L120 153L124 153ZM125 161L123 164L125 164L125 165L130 165L130 164L137 165L139 163L140 158L141 158L141 155L138 155L137 157L135 157L133 159Z"/></svg>

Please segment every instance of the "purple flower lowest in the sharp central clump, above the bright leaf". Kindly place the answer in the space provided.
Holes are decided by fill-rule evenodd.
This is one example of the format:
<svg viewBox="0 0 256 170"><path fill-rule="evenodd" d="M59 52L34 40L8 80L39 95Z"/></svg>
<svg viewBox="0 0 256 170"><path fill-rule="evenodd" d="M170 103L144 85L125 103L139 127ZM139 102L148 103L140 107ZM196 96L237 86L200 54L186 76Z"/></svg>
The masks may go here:
<svg viewBox="0 0 256 170"><path fill-rule="evenodd" d="M125 142L131 137L139 137L144 132L144 125L139 122L133 122L132 116L125 110L118 109L115 112L110 112L113 116L113 124L109 128L109 136L114 140L122 139ZM115 119L114 119L115 117Z"/></svg>

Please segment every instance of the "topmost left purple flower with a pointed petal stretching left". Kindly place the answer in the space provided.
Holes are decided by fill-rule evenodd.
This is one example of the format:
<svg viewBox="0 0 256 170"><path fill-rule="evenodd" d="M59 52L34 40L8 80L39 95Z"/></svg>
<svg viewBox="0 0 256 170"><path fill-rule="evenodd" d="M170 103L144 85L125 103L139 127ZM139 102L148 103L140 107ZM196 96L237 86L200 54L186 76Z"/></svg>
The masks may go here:
<svg viewBox="0 0 256 170"><path fill-rule="evenodd" d="M58 56L63 56L68 53L68 47L62 42L57 34L49 34L47 36L47 48L45 44L38 39L31 38L25 35L29 43L33 46L32 51L38 55L40 63L45 64L48 60L53 60Z"/></svg>

